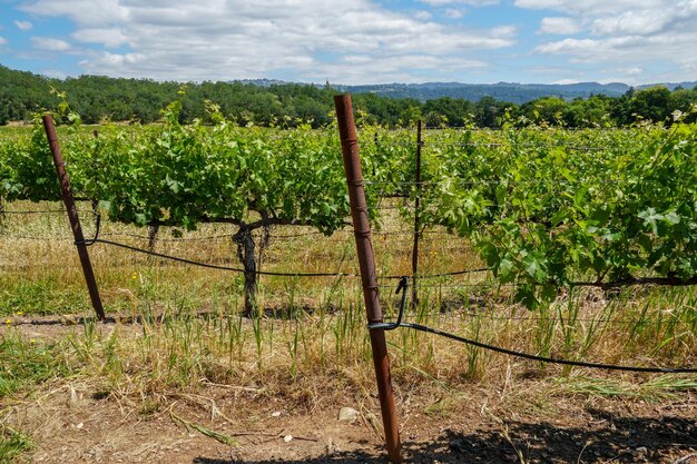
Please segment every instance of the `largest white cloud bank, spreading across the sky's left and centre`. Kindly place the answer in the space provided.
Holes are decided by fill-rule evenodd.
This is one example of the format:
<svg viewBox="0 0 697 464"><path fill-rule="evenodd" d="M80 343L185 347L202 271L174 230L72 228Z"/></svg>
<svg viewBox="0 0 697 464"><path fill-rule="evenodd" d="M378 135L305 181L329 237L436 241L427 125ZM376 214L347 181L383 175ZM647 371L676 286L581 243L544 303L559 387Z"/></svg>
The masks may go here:
<svg viewBox="0 0 697 464"><path fill-rule="evenodd" d="M292 69L318 81L379 82L413 78L413 57L422 58L416 60L422 75L438 77L445 70L461 72L468 68L462 63L481 67L472 57L516 43L510 27L443 24L423 13L386 10L371 0L94 0L89 8L85 3L33 0L22 9L71 19L77 24L72 40L110 50L86 51L84 71L110 76L228 80L282 77ZM66 41L41 45L70 47ZM116 50L119 47L126 51ZM348 62L354 56L371 61L353 69ZM426 56L432 59L423 60ZM386 62L390 67L383 66Z"/></svg>

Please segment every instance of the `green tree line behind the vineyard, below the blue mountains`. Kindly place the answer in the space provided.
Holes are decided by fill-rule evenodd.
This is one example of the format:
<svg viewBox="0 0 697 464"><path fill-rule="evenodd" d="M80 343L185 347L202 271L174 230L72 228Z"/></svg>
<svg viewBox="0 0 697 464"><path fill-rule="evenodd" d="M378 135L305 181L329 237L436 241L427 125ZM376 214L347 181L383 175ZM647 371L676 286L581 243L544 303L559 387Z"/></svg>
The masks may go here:
<svg viewBox="0 0 697 464"><path fill-rule="evenodd" d="M61 99L53 90L65 92L71 109L86 124L109 121L155 122L161 119L161 109L180 99L181 124L195 119L206 121L206 101L237 124L275 127L295 127L310 122L321 127L333 120L333 96L336 90L326 86L301 83L233 82L158 82L149 79L81 76L65 80L31 72L16 71L0 66L0 125L31 119L36 111L55 111ZM181 95L184 93L184 95ZM386 127L405 127L423 120L432 127L495 128L503 124L520 126L550 125L571 128L626 127L641 121L670 124L676 111L687 113L695 121L697 87L665 87L630 89L620 97L595 95L589 98L565 100L549 96L522 105L493 97L478 101L442 97L420 101L394 99L375 93L353 97L359 122Z"/></svg>

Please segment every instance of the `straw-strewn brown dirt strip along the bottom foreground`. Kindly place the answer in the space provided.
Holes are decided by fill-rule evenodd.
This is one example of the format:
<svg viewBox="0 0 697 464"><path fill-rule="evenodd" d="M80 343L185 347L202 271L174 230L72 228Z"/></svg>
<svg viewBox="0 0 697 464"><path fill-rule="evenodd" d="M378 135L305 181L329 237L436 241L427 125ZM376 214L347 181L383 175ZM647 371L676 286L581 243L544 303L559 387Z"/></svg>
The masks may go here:
<svg viewBox="0 0 697 464"><path fill-rule="evenodd" d="M338 405L288 412L274 398L232 399L225 388L208 388L193 399L170 398L165 411L144 416L128 405L95 396L79 386L65 387L16 411L13 422L30 430L37 443L32 462L385 462L370 411L353 423L340 422ZM494 419L482 413L482 402L473 402L458 416L439 419L418 413L414 403L400 408L408 462L697 462L694 404L592 407L565 402L553 415ZM235 437L238 444L218 443L175 417Z"/></svg>

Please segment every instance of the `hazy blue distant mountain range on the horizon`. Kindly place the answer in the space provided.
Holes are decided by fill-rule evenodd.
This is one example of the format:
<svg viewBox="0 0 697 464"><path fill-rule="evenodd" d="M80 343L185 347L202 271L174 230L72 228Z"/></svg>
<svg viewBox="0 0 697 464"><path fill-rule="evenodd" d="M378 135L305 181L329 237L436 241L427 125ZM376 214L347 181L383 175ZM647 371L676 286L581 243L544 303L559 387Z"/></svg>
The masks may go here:
<svg viewBox="0 0 697 464"><path fill-rule="evenodd" d="M691 89L697 86L694 82L679 83L655 83L646 86L637 86L636 89L649 88L655 86L664 86L670 90L677 87ZM426 83L385 83L373 86L333 86L342 91L352 93L372 92L381 97L391 98L414 98L420 101L432 100L441 97L461 98L465 100L478 101L482 97L493 97L497 100L509 101L512 103L524 103L541 97L560 97L566 100L575 98L588 98L591 95L607 95L610 97L619 97L626 93L631 87L621 83L598 83L598 82L580 82L580 83L459 83L459 82L426 82Z"/></svg>

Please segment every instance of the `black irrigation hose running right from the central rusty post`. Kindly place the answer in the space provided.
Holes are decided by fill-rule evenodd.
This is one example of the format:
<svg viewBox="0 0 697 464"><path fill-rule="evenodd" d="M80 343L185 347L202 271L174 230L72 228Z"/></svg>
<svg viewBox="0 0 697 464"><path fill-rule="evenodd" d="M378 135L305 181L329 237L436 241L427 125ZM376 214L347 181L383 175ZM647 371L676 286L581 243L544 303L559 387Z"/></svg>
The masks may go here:
<svg viewBox="0 0 697 464"><path fill-rule="evenodd" d="M561 359L556 357L546 357L531 355L529 353L517 352L513 349L502 348L500 346L489 345L482 342L473 340L470 338L464 338L459 335L451 334L449 332L439 330L438 328L432 328L421 324L413 323L403 323L402 318L404 316L404 308L406 307L406 288L408 288L408 278L402 277L400 279L400 284L396 288L396 293L403 292L402 294L402 303L400 306L400 314L395 323L377 323L377 324L369 324L367 328L370 330L383 329L383 330L394 330L399 327L411 328L414 330L425 332L428 334L440 335L441 337L450 338L455 342L464 343L467 345L477 346L479 348L488 349L490 352L501 353L509 356L521 357L523 359L539 361L541 363L549 364L561 364L565 366L575 366L575 367L589 367L595 369L608 369L608 371L625 371L625 372L644 372L644 373L662 373L662 374L694 374L697 373L697 368L695 367L640 367L640 366L621 366L616 364L602 364L602 363L586 363L582 361L569 361Z"/></svg>

